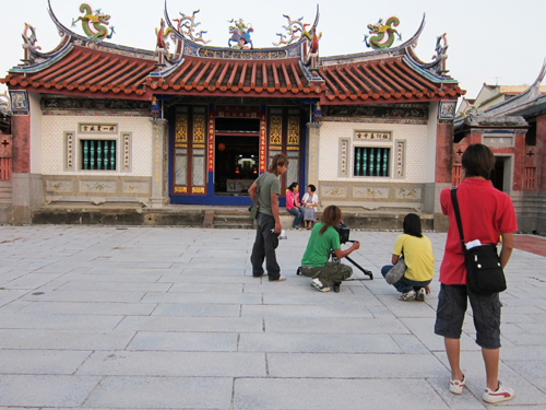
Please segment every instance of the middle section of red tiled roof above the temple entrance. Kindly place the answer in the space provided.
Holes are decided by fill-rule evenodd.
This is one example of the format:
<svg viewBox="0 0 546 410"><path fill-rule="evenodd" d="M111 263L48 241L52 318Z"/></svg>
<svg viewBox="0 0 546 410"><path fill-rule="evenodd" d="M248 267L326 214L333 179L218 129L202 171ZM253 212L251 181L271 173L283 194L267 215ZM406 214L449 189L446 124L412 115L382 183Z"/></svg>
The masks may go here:
<svg viewBox="0 0 546 410"><path fill-rule="evenodd" d="M321 93L324 84L311 86L299 58L278 60L224 60L187 57L165 78L149 78L146 84L158 92L245 93L304 96Z"/></svg>

